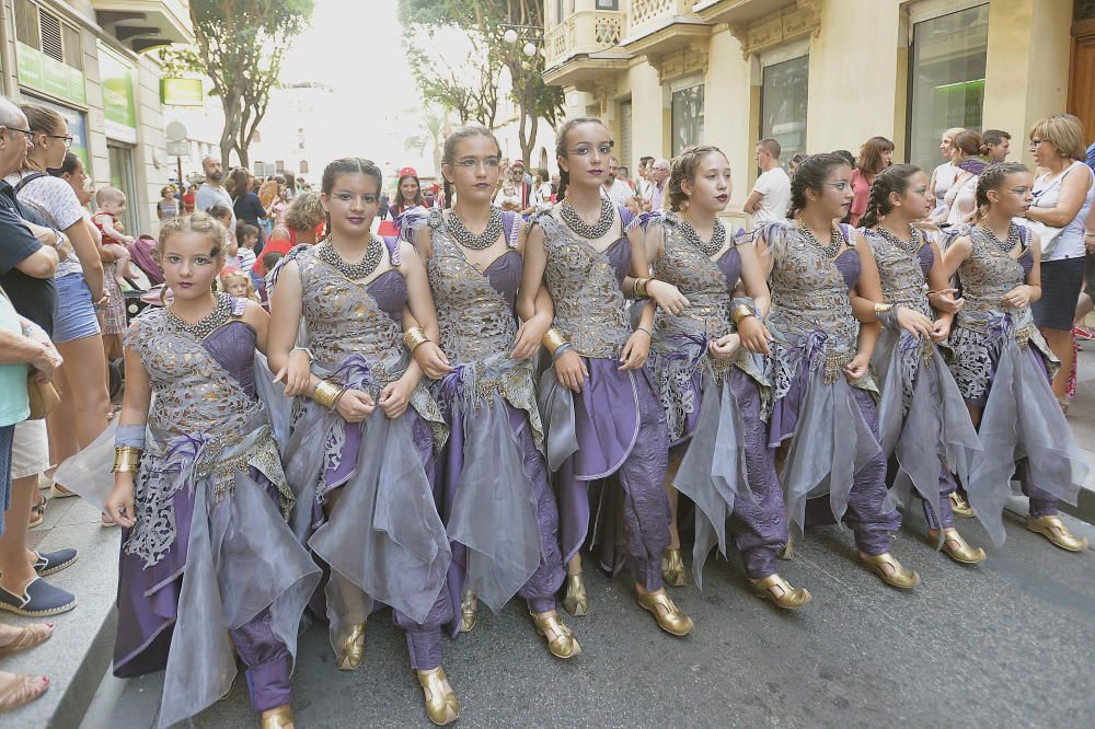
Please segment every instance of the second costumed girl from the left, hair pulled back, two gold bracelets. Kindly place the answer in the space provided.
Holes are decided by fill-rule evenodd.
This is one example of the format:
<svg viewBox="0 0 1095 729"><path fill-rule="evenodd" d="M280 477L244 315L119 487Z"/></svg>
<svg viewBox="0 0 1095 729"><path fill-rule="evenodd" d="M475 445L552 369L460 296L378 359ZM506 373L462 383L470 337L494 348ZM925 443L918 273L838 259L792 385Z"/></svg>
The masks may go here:
<svg viewBox="0 0 1095 729"><path fill-rule="evenodd" d="M380 170L368 160L335 160L323 171L330 234L295 248L278 268L270 368L286 379L286 395L310 396L296 403L286 475L300 495L295 531L330 568L336 663L360 664L374 601L391 605L406 630L426 714L448 724L459 711L441 670L451 551L431 487L448 429L419 380L424 369L440 377L449 368L435 344L422 259L410 243L389 245L370 232L380 189ZM405 311L422 327L417 361L404 346ZM310 349L293 347L301 315Z"/></svg>

